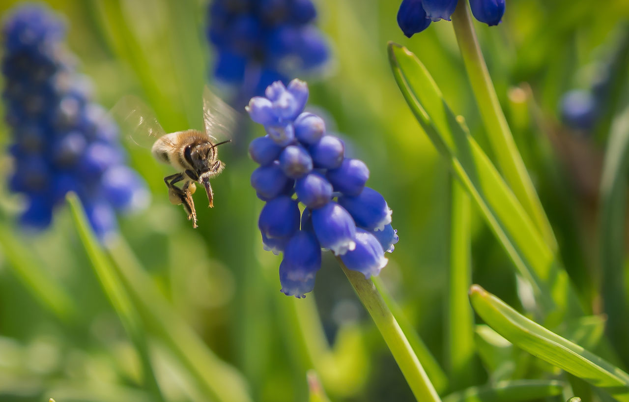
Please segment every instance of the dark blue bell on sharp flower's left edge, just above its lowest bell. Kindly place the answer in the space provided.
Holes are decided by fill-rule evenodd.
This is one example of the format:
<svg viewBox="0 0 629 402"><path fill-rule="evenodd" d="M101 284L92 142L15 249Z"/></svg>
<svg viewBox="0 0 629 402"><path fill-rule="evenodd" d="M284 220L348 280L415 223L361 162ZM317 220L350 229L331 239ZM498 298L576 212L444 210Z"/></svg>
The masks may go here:
<svg viewBox="0 0 629 402"><path fill-rule="evenodd" d="M299 230L300 215L297 201L281 196L262 208L258 228L267 238L289 238Z"/></svg>

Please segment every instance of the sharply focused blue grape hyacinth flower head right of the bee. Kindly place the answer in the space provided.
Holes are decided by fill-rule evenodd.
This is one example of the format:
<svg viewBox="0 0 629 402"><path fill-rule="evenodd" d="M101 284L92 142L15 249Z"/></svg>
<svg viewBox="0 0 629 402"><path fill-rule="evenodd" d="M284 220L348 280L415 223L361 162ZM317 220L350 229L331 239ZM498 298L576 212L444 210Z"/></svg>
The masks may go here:
<svg viewBox="0 0 629 402"><path fill-rule="evenodd" d="M284 254L282 293L302 298L314 288L322 248L348 269L376 276L398 235L382 195L365 187L367 165L345 157L343 142L326 133L323 119L303 111L305 82L294 79L285 87L277 81L265 95L252 98L246 108L267 132L249 146L250 157L260 164L251 184L266 201L258 221L264 248Z"/></svg>

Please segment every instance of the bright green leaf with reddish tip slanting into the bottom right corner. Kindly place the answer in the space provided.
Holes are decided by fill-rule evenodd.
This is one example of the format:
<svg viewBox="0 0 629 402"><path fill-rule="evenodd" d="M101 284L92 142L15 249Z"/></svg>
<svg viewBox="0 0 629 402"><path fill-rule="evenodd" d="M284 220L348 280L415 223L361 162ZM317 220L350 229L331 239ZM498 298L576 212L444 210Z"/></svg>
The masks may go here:
<svg viewBox="0 0 629 402"><path fill-rule="evenodd" d="M629 401L629 374L529 320L481 286L470 288L479 316L509 342L546 362L584 379L618 401Z"/></svg>

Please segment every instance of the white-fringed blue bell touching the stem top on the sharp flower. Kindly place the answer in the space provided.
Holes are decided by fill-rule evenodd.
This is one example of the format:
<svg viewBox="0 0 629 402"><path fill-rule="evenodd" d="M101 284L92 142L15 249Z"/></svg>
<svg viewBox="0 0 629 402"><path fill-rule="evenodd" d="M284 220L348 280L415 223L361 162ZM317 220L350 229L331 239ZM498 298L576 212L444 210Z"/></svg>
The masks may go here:
<svg viewBox="0 0 629 402"><path fill-rule="evenodd" d="M356 230L356 247L341 256L343 264L352 271L359 271L367 279L377 276L388 260L382 245L374 235L362 229Z"/></svg>

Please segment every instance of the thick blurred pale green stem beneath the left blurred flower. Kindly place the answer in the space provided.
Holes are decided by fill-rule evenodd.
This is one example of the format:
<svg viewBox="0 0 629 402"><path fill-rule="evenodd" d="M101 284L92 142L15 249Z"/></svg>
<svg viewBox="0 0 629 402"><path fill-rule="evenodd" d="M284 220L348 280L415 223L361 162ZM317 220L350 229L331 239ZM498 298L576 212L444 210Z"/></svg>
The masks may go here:
<svg viewBox="0 0 629 402"><path fill-rule="evenodd" d="M175 313L124 239L115 238L108 243L107 251L148 327L169 345L196 379L199 388L217 401L252 401L242 374L214 355L199 335Z"/></svg>

